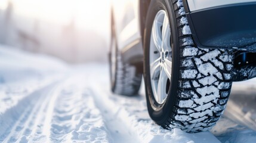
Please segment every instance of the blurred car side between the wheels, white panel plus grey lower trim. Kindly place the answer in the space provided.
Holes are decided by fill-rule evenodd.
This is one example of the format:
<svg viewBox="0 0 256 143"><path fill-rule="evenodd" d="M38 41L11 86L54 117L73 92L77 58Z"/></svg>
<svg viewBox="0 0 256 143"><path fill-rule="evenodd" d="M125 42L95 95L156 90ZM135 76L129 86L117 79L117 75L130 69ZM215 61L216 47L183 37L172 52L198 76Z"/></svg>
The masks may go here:
<svg viewBox="0 0 256 143"><path fill-rule="evenodd" d="M143 61L139 10L139 0L112 0L112 25L122 60L127 63Z"/></svg>

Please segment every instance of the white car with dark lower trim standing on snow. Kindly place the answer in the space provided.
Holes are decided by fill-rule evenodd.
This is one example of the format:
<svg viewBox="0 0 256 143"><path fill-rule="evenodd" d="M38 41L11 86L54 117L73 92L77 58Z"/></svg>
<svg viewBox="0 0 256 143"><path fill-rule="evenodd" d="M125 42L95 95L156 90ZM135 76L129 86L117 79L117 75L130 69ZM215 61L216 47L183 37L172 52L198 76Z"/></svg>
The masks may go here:
<svg viewBox="0 0 256 143"><path fill-rule="evenodd" d="M201 132L226 107L232 82L256 77L256 0L113 0L111 89L138 95L165 129Z"/></svg>

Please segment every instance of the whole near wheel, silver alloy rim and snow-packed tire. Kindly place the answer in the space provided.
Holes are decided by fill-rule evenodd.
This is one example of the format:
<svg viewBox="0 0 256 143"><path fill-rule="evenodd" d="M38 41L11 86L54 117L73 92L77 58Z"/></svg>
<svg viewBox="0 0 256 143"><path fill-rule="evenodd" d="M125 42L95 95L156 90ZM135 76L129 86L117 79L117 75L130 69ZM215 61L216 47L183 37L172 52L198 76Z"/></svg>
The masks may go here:
<svg viewBox="0 0 256 143"><path fill-rule="evenodd" d="M232 50L198 48L181 0L151 1L144 37L150 117L166 129L211 129L229 98Z"/></svg>

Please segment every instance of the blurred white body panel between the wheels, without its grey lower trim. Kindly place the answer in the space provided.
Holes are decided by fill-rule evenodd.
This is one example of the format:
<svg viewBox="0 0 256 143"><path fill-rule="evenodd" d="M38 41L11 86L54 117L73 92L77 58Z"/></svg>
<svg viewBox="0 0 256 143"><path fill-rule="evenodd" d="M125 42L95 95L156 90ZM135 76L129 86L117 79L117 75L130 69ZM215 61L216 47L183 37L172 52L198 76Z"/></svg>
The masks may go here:
<svg viewBox="0 0 256 143"><path fill-rule="evenodd" d="M115 34L118 48L129 48L131 43L141 38L138 0L112 0ZM127 49L126 49L127 50Z"/></svg>

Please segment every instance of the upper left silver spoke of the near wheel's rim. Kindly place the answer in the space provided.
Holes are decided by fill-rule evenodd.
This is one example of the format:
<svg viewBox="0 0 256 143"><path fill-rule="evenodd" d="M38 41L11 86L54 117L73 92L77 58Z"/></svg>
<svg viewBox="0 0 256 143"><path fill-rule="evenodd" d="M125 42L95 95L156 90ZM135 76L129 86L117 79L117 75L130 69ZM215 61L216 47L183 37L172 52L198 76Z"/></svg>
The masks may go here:
<svg viewBox="0 0 256 143"><path fill-rule="evenodd" d="M152 27L153 42L155 43L155 46L159 52L161 51L161 46L162 46L161 25L162 23L155 20Z"/></svg>

